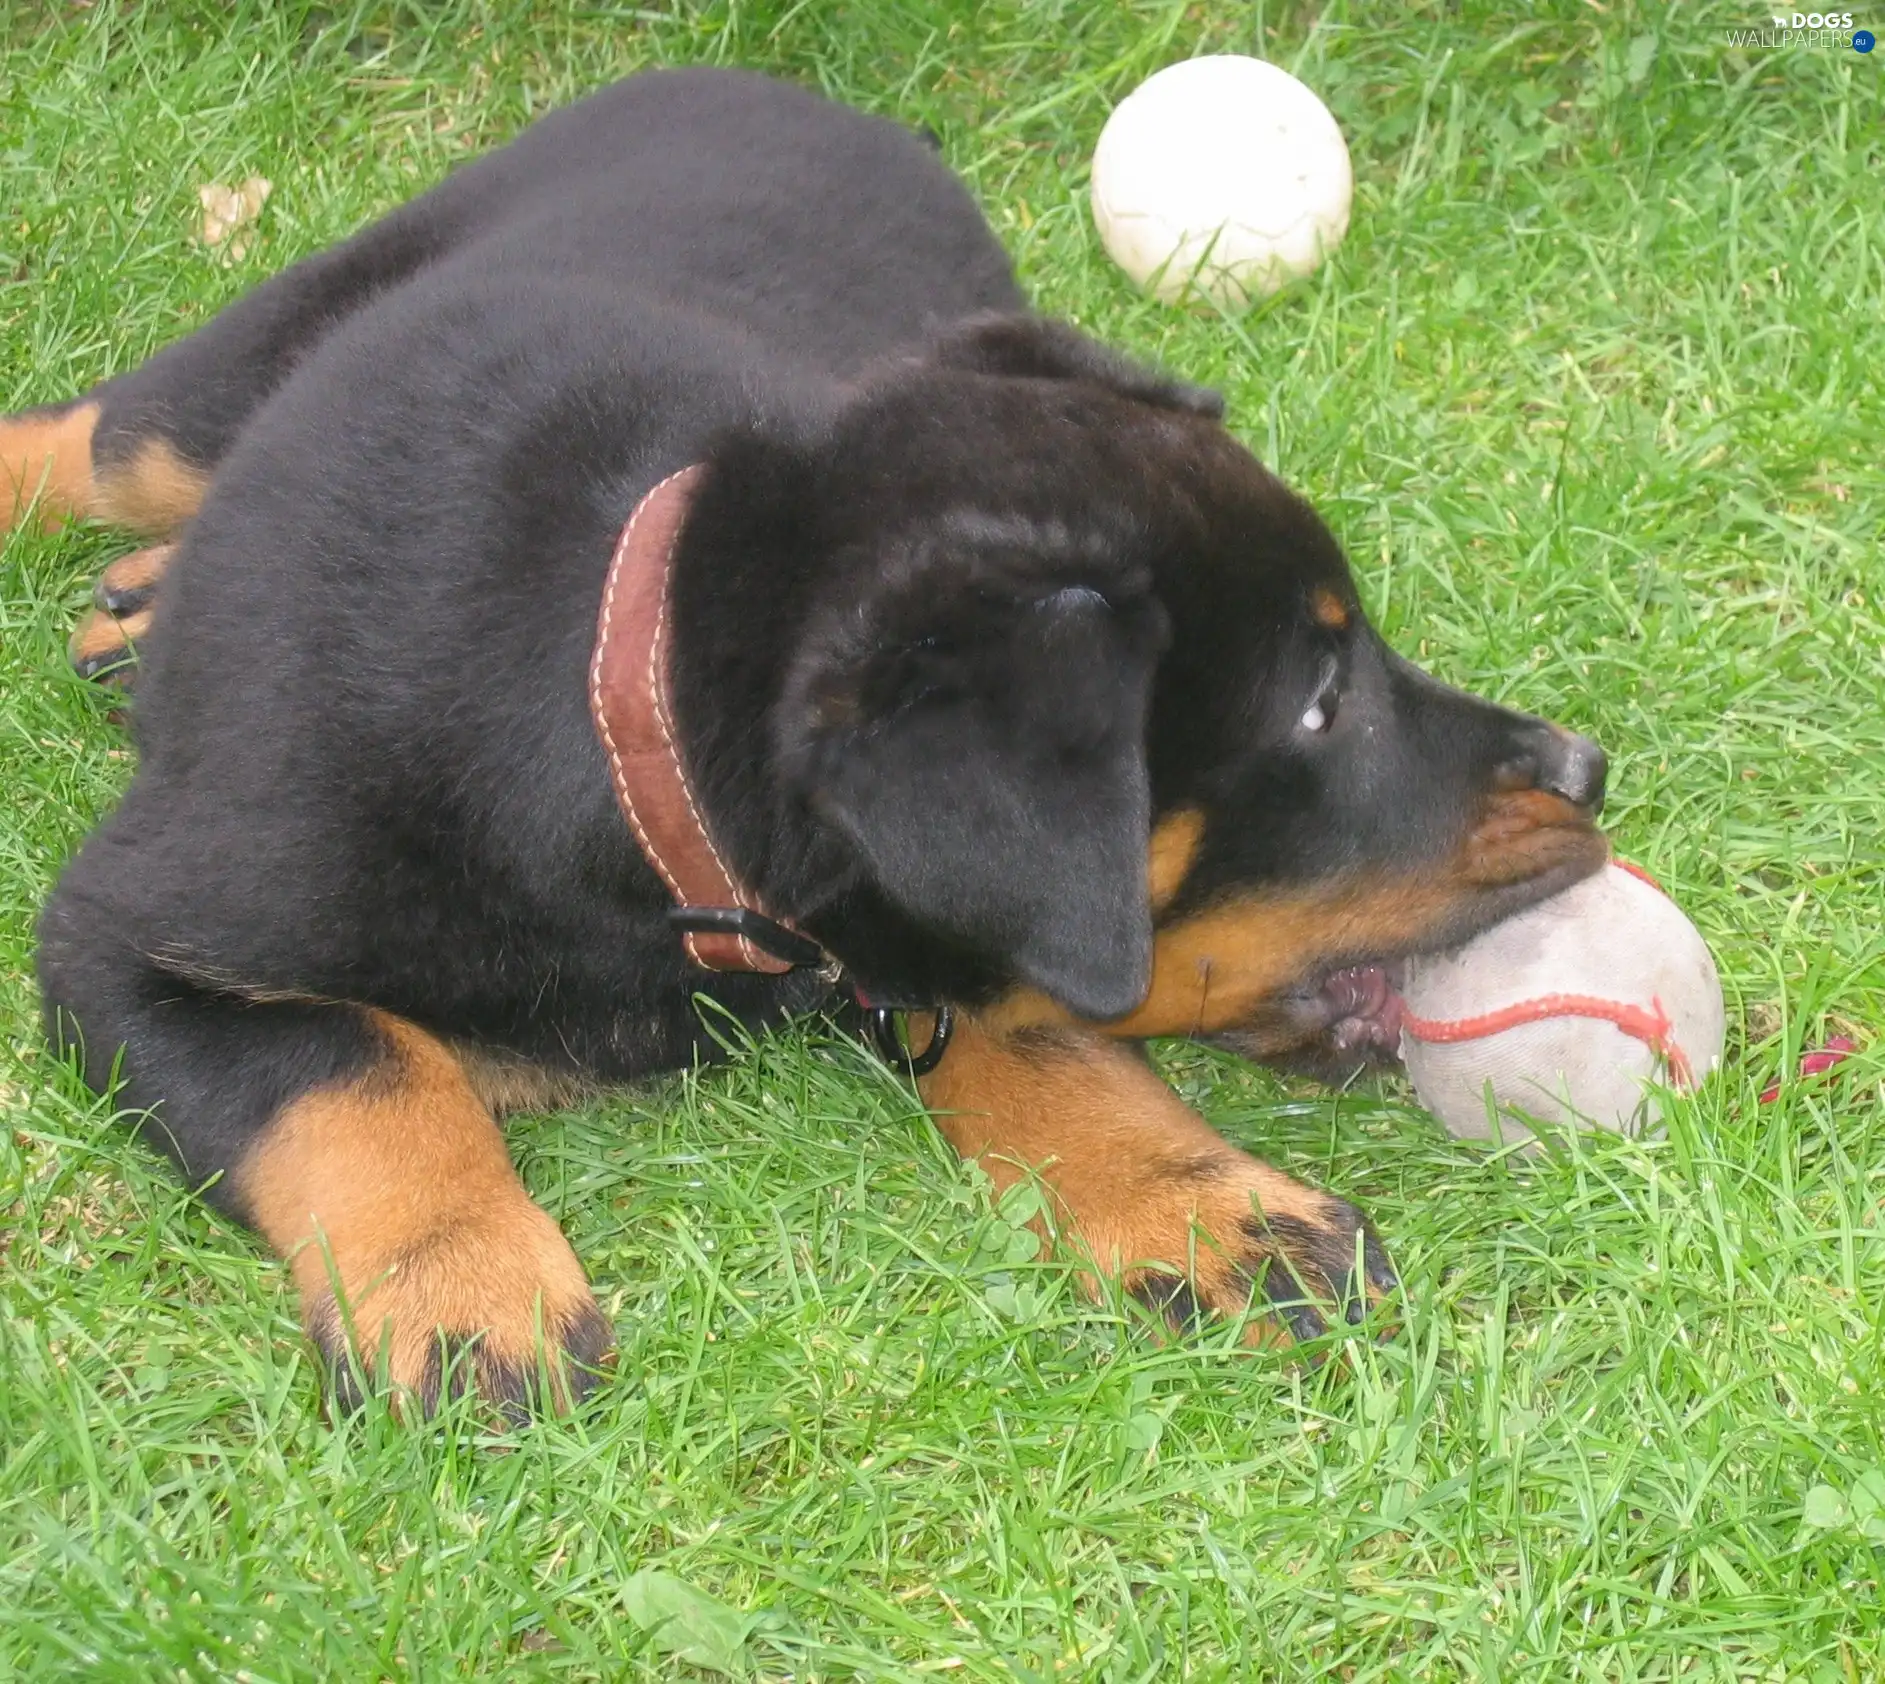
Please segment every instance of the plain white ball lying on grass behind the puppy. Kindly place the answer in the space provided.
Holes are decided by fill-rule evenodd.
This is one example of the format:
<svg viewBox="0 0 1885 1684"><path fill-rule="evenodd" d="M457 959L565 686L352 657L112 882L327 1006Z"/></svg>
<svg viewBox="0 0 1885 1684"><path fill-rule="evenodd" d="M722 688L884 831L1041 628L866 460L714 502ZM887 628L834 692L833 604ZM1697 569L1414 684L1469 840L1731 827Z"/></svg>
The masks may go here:
<svg viewBox="0 0 1885 1684"><path fill-rule="evenodd" d="M1348 232L1355 179L1329 107L1287 70L1218 55L1120 102L1093 153L1093 223L1154 296L1244 309Z"/></svg>

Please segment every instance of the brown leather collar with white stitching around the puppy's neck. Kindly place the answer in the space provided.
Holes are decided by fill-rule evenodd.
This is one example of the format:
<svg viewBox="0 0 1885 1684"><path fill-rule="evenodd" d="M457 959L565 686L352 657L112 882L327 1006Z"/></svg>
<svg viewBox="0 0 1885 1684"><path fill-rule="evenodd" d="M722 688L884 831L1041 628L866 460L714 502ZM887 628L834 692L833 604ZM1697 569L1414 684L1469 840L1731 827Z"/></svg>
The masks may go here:
<svg viewBox="0 0 1885 1684"><path fill-rule="evenodd" d="M616 539L596 622L590 713L628 828L675 898L673 916L684 930L688 958L709 971L780 975L822 954L790 924L771 920L728 869L680 764L667 700L667 581L703 471L696 462L669 473L635 504ZM701 928L713 924L724 928ZM797 943L805 954L790 960L767 952L741 928L769 928L775 947Z"/></svg>

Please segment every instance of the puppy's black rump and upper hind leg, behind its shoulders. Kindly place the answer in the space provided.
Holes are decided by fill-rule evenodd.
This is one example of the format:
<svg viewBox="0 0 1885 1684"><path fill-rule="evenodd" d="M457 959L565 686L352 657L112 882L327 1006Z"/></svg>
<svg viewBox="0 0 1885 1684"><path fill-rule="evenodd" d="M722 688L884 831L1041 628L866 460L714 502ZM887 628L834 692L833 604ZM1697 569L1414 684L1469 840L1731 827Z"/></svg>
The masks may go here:
<svg viewBox="0 0 1885 1684"><path fill-rule="evenodd" d="M626 302L665 302L826 373L1022 304L975 202L909 130L763 75L648 72L539 119L238 300L213 336L100 387L100 447L160 422L187 458L219 462L343 317L467 275L554 277L560 302L545 290L545 307L579 311L586 296L616 339L637 338ZM567 338L581 326L566 322L571 358L588 347Z"/></svg>

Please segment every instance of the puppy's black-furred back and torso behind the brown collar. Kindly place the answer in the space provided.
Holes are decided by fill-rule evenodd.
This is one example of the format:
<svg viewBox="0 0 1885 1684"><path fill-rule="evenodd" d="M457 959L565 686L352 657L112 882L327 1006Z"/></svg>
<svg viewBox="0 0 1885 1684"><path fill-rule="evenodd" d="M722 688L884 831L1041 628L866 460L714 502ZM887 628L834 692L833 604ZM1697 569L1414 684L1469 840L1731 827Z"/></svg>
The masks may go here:
<svg viewBox="0 0 1885 1684"><path fill-rule="evenodd" d="M731 426L816 428L873 358L1016 305L963 187L797 89L654 74L307 270L217 324L268 332L285 298L300 324L336 289L166 579L143 771L100 837L126 841L119 916L205 975L607 1075L690 1056L696 988L754 1020L809 1003L665 939L584 713L596 603L662 473Z"/></svg>

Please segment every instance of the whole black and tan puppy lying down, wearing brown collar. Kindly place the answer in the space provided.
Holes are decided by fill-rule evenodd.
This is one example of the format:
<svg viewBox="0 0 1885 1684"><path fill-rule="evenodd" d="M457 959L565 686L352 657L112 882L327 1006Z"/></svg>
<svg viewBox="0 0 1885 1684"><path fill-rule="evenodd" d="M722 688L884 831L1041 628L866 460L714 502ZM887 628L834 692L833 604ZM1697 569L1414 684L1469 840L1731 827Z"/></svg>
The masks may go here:
<svg viewBox="0 0 1885 1684"><path fill-rule="evenodd" d="M136 639L141 764L51 1022L343 1386L586 1384L496 1116L711 1054L696 996L952 1007L965 1156L1174 1322L1314 1333L1380 1246L1139 1043L1350 1071L1399 956L1606 854L1602 754L1389 652L1208 392L1029 315L924 141L750 75L549 117L0 471L173 545L75 639Z"/></svg>

